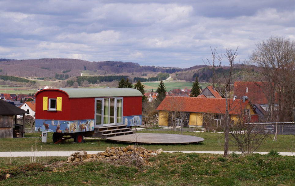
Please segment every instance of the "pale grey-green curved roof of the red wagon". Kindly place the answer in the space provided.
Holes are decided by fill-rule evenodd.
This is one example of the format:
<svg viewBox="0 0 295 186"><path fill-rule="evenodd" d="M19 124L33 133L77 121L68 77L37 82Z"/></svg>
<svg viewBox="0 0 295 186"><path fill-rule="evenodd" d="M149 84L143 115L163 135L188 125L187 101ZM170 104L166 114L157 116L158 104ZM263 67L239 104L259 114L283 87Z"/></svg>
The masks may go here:
<svg viewBox="0 0 295 186"><path fill-rule="evenodd" d="M141 92L134 88L58 88L58 90L66 92L69 98L142 96Z"/></svg>

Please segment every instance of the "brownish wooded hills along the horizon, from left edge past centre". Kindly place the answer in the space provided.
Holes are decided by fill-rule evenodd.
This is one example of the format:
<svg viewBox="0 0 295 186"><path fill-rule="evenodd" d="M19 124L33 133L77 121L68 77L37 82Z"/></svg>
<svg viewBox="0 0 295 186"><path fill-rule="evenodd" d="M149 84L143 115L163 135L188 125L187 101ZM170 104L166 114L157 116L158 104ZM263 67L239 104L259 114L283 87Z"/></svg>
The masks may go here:
<svg viewBox="0 0 295 186"><path fill-rule="evenodd" d="M4 61L6 60L6 61ZM18 77L51 77L66 79L65 77L80 76L81 71L91 71L95 75L159 72L174 73L182 69L155 66L140 66L138 63L121 61L90 62L79 59L28 59L0 61L3 74ZM66 76L67 75L67 76Z"/></svg>

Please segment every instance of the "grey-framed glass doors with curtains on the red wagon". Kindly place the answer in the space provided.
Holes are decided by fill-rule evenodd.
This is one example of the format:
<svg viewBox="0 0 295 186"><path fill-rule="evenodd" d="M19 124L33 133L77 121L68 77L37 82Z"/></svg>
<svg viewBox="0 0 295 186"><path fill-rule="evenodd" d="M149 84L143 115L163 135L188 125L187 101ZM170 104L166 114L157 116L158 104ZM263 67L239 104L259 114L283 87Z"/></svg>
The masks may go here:
<svg viewBox="0 0 295 186"><path fill-rule="evenodd" d="M95 126L121 125L123 98L95 98Z"/></svg>

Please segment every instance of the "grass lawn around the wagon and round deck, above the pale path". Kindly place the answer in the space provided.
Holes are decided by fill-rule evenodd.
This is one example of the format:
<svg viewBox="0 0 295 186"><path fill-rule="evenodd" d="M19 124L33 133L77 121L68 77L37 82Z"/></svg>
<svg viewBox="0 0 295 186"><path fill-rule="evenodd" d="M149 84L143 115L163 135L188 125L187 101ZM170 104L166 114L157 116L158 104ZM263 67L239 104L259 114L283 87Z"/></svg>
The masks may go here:
<svg viewBox="0 0 295 186"><path fill-rule="evenodd" d="M141 132L139 131L139 135ZM173 133L179 134L178 132L173 131L147 131L150 133ZM35 148L35 142L37 141L37 151L104 151L106 147L123 147L126 146L126 143L112 143L106 140L100 139L86 139L85 143L74 143L73 139L67 140L63 144L53 144L52 143L52 132L48 133L49 139L47 143L41 143L39 139L0 139L0 151L31 151L32 146ZM149 145L144 144L142 147L150 150L157 150L162 148L163 151L223 151L223 134L219 133L194 133L194 132L183 132L185 135L192 135L204 138L204 142L198 144L189 144L189 145ZM38 137L40 133L28 133L25 137ZM279 135L276 142L272 141L273 135L264 141L260 146L258 151L270 151L274 149L278 152L290 152L288 148L292 149L292 144L294 144L293 135ZM220 141L220 143L218 143ZM236 148L230 146L230 151L236 151Z"/></svg>

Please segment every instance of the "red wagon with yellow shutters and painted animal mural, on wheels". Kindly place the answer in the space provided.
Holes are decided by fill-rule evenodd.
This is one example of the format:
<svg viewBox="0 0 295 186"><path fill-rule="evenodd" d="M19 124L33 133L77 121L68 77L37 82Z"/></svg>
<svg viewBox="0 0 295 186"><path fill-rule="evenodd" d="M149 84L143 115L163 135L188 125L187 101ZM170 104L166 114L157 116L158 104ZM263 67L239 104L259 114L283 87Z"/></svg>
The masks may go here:
<svg viewBox="0 0 295 186"><path fill-rule="evenodd" d="M141 125L141 92L133 88L59 88L36 93L35 131L83 142L83 136L128 134Z"/></svg>

